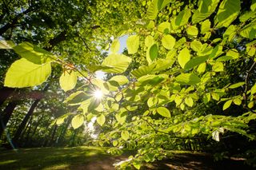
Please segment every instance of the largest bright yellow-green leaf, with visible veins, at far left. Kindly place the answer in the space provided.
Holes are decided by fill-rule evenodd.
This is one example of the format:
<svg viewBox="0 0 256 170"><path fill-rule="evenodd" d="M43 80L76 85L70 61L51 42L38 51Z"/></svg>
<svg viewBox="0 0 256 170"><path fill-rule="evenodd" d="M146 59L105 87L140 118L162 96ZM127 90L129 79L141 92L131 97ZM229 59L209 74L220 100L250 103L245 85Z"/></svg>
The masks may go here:
<svg viewBox="0 0 256 170"><path fill-rule="evenodd" d="M50 63L36 65L21 58L14 61L6 73L4 85L7 87L30 87L41 85L50 76Z"/></svg>

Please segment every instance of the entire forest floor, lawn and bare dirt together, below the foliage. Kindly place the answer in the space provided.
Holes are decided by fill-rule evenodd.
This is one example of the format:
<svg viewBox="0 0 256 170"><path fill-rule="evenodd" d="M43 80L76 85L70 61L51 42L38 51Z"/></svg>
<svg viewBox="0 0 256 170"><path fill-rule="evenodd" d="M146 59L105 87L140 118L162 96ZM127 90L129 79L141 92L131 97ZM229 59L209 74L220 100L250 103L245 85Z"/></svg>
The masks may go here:
<svg viewBox="0 0 256 170"><path fill-rule="evenodd" d="M125 160L124 156L110 156L106 148L22 148L18 151L0 151L0 169L88 169L112 170L113 164ZM244 160L225 159L215 162L213 156L202 152L170 151L166 159L144 164L142 170L157 169L254 169Z"/></svg>

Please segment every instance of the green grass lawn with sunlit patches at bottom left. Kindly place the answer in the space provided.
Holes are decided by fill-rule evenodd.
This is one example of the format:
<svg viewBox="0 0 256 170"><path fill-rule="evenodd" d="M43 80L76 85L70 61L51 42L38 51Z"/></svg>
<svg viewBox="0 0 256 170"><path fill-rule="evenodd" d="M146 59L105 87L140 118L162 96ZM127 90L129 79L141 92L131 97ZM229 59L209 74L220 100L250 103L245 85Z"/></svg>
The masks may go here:
<svg viewBox="0 0 256 170"><path fill-rule="evenodd" d="M63 169L108 157L106 148L24 148L0 152L0 169Z"/></svg>

